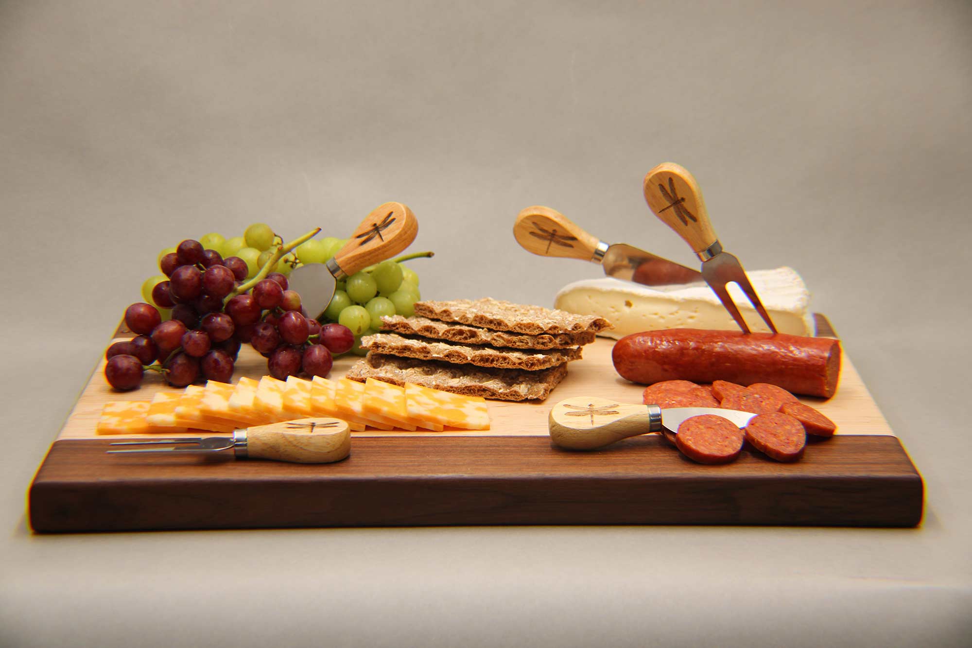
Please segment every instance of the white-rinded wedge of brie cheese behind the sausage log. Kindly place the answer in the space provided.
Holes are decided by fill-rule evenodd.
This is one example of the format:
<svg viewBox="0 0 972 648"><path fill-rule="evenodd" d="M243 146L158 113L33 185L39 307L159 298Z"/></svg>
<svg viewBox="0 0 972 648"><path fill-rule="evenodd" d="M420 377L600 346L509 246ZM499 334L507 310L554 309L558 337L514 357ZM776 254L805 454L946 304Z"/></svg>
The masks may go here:
<svg viewBox="0 0 972 648"><path fill-rule="evenodd" d="M814 335L810 293L792 268L746 272L749 282L780 333ZM769 331L735 283L729 294L751 331ZM649 287L619 279L575 281L557 293L554 307L580 315L600 315L614 328L599 335L615 340L657 329L739 330L728 311L704 283Z"/></svg>

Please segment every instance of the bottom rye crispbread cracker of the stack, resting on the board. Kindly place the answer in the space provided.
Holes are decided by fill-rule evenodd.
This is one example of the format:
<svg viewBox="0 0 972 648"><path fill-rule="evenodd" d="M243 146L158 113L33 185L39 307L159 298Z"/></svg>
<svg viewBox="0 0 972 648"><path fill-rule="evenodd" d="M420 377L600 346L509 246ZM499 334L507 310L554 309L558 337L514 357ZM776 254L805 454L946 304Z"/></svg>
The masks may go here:
<svg viewBox="0 0 972 648"><path fill-rule="evenodd" d="M368 352L348 371L347 378L364 382L376 378L403 385L414 382L423 387L451 391L464 396L482 396L501 401L543 400L567 376L567 364L538 372L519 369L488 369L453 365L434 360L397 358Z"/></svg>

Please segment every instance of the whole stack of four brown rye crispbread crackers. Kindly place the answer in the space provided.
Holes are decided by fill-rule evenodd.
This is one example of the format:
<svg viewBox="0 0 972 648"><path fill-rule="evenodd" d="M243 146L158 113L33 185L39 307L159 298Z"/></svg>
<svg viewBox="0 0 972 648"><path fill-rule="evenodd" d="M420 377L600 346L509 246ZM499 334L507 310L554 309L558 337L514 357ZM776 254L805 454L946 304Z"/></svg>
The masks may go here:
<svg viewBox="0 0 972 648"><path fill-rule="evenodd" d="M382 323L381 333L362 338L367 357L348 378L504 401L546 398L580 347L611 328L603 317L489 298L416 302L415 316Z"/></svg>

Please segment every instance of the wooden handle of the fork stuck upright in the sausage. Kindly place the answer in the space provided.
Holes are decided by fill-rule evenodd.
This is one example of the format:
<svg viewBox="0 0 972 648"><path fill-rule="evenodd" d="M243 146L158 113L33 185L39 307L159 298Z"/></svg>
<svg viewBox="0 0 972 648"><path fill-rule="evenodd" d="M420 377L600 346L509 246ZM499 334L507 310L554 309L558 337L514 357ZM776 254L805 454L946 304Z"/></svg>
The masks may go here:
<svg viewBox="0 0 972 648"><path fill-rule="evenodd" d="M655 216L695 252L702 252L718 240L699 184L675 162L664 162L648 171L644 176L644 199Z"/></svg>

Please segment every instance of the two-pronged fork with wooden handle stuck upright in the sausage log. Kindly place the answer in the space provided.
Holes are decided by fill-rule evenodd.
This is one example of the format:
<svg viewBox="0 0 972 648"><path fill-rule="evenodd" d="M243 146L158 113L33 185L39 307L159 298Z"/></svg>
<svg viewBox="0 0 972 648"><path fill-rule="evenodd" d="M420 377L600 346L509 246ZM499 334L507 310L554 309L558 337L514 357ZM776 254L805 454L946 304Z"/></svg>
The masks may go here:
<svg viewBox="0 0 972 648"><path fill-rule="evenodd" d="M722 243L709 222L702 191L692 174L674 162L664 162L648 171L643 188L644 199L655 216L675 230L702 260L702 276L739 328L749 333L746 320L726 290L726 284L732 281L739 285L759 316L776 333L777 327L759 301L739 259L722 250Z"/></svg>

